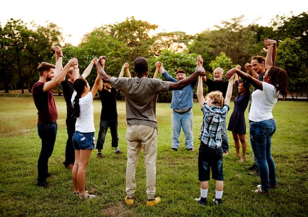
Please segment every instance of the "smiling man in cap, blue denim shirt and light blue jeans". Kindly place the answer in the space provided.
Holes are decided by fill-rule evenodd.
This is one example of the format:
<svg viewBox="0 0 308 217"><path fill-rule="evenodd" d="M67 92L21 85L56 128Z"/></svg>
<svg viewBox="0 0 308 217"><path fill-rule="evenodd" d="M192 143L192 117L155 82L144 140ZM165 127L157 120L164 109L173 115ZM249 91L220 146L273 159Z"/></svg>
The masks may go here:
<svg viewBox="0 0 308 217"><path fill-rule="evenodd" d="M159 72L164 77L166 81L171 82L179 82L180 80L185 79L186 73L184 70L178 70L176 72L176 78L173 78L168 74L168 72L162 67L160 62L156 62L156 68L159 69ZM192 105L193 105L193 88L197 83L197 79L195 79L192 83L187 85L181 90L173 90L172 91L172 100L170 108L172 110L171 116L171 128L172 128L172 136L171 150L177 151L180 146L180 133L181 128L183 129L185 135L185 146L188 151L193 151L193 113L192 113Z"/></svg>

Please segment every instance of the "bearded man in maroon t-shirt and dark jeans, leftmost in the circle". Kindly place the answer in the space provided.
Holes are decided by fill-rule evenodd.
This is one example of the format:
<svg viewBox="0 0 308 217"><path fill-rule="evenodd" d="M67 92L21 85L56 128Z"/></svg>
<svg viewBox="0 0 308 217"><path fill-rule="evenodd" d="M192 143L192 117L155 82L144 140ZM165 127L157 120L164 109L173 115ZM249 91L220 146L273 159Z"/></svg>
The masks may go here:
<svg viewBox="0 0 308 217"><path fill-rule="evenodd" d="M37 132L42 140L42 148L37 162L37 185L45 188L51 187L46 181L49 176L48 160L54 150L58 130L58 112L54 100L53 88L61 83L70 67L74 67L74 70L78 69L78 60L76 58L70 59L62 69L62 50L59 46L56 46L55 51L56 55L59 56L56 66L42 62L37 68L39 80L32 87L34 104L38 110Z"/></svg>

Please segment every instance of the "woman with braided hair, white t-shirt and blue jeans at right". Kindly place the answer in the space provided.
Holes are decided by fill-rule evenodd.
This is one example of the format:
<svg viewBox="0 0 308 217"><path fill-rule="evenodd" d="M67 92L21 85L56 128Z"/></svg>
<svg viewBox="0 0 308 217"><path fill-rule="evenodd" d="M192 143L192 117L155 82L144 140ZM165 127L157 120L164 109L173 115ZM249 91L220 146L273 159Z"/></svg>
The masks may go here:
<svg viewBox="0 0 308 217"><path fill-rule="evenodd" d="M263 77L263 81L251 77L237 68L227 72L226 77L237 73L257 90L251 94L251 107L248 115L249 139L258 163L261 186L253 192L270 193L270 188L278 188L275 163L271 155L271 139L276 131L272 109L278 96L284 100L289 90L288 75L284 69L272 67Z"/></svg>

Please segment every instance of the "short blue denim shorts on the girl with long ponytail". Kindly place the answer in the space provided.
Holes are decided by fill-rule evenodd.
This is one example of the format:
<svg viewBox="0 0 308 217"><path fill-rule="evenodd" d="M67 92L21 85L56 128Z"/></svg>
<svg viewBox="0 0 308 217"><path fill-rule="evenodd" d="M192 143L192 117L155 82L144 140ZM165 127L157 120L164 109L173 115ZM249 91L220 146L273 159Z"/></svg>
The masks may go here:
<svg viewBox="0 0 308 217"><path fill-rule="evenodd" d="M76 150L94 149L95 147L94 132L81 133L79 131L76 131L73 136L73 147Z"/></svg>

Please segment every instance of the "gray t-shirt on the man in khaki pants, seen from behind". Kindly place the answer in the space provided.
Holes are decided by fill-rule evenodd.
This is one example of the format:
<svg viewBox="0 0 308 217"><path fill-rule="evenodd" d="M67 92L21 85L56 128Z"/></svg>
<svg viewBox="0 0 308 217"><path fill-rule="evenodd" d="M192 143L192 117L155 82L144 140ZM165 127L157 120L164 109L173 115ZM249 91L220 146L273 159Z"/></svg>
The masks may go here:
<svg viewBox="0 0 308 217"><path fill-rule="evenodd" d="M146 77L112 77L110 84L121 90L125 96L128 125L149 125L157 128L157 94L168 91L170 82Z"/></svg>

